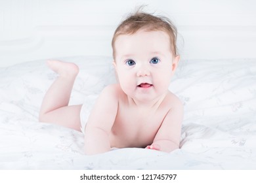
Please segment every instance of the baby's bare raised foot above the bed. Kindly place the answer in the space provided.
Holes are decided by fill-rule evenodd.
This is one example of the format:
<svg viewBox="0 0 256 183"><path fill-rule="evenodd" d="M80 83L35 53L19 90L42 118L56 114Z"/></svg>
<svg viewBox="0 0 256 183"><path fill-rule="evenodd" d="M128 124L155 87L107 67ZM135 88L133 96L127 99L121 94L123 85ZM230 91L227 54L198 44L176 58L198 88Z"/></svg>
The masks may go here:
<svg viewBox="0 0 256 183"><path fill-rule="evenodd" d="M79 68L75 63L69 63L58 60L48 60L47 65L60 76L77 76Z"/></svg>

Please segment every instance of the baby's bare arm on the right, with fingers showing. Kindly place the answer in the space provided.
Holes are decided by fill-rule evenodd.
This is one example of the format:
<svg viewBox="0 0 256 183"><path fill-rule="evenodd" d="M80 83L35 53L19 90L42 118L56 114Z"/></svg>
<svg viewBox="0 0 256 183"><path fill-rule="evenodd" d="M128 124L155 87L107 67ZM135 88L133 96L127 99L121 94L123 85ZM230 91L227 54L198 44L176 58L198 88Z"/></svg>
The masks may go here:
<svg viewBox="0 0 256 183"><path fill-rule="evenodd" d="M146 148L163 152L171 152L179 148L183 106L179 99L175 99L173 102L173 107L165 116L154 142Z"/></svg>

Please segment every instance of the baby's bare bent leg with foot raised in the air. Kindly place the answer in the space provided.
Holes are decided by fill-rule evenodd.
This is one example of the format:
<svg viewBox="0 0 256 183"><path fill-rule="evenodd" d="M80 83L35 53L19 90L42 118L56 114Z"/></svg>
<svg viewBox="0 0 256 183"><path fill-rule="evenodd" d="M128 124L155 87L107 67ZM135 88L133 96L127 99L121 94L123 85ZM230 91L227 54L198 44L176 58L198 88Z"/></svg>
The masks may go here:
<svg viewBox="0 0 256 183"><path fill-rule="evenodd" d="M49 88L39 112L39 121L80 129L81 105L68 106L70 94L79 68L75 63L48 61L47 64L59 76Z"/></svg>

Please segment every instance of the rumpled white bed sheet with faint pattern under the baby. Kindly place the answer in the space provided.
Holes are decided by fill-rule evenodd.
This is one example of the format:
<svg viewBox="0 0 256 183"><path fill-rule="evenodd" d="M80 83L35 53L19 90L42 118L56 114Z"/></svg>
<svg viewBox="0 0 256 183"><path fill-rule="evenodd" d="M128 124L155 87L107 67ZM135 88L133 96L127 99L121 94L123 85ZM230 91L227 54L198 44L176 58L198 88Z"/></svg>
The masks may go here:
<svg viewBox="0 0 256 183"><path fill-rule="evenodd" d="M115 82L112 59L80 67L71 104ZM184 103L181 149L123 148L85 156L83 134L38 122L56 78L45 60L0 69L0 169L256 169L256 59L182 60L169 89Z"/></svg>

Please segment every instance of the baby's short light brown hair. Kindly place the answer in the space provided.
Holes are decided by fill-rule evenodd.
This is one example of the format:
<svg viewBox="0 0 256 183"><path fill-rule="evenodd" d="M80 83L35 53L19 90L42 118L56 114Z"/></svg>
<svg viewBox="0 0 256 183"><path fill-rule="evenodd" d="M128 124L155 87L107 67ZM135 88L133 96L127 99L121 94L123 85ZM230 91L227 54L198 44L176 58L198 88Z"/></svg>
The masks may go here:
<svg viewBox="0 0 256 183"><path fill-rule="evenodd" d="M154 16L152 14L144 12L135 12L127 19L125 19L117 27L113 39L112 39L112 49L113 57L116 58L116 47L115 42L119 35L133 35L137 31L163 31L169 35L170 51L173 56L177 56L177 29L172 22L166 17Z"/></svg>

